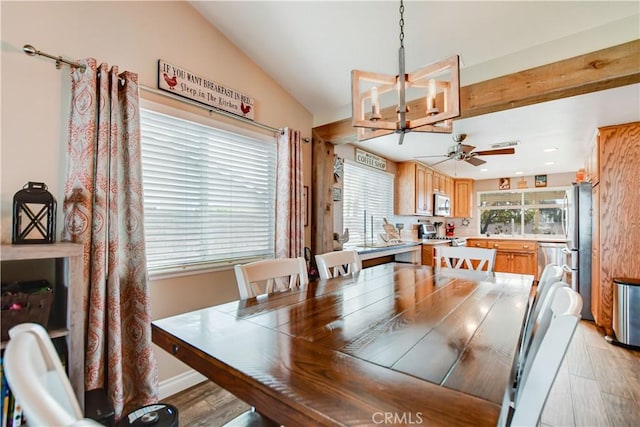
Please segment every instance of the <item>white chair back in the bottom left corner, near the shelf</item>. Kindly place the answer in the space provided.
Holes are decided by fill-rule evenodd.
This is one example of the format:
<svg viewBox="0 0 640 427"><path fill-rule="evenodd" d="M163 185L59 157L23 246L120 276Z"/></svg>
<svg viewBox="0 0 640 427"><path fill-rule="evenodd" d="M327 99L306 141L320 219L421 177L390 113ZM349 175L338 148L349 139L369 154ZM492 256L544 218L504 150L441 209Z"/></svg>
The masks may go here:
<svg viewBox="0 0 640 427"><path fill-rule="evenodd" d="M21 323L9 337L3 372L29 426L101 426L84 417L44 327Z"/></svg>

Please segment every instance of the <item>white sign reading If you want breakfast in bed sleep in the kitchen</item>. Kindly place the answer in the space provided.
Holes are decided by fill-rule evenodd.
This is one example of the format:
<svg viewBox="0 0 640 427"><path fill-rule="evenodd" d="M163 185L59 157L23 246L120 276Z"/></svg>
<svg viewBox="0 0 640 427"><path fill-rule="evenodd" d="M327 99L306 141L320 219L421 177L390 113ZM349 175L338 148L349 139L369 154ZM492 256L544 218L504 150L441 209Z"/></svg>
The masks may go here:
<svg viewBox="0 0 640 427"><path fill-rule="evenodd" d="M158 60L158 88L253 120L252 97L162 59Z"/></svg>

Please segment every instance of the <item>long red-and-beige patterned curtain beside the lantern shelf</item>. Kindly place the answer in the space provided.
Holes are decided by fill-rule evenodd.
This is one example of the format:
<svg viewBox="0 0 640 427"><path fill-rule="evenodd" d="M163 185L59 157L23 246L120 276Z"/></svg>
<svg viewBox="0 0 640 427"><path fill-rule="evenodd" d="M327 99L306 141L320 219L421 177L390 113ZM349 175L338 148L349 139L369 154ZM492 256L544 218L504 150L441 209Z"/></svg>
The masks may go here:
<svg viewBox="0 0 640 427"><path fill-rule="evenodd" d="M138 76L81 61L71 74L63 240L84 244L85 386L116 418L158 394L143 229Z"/></svg>

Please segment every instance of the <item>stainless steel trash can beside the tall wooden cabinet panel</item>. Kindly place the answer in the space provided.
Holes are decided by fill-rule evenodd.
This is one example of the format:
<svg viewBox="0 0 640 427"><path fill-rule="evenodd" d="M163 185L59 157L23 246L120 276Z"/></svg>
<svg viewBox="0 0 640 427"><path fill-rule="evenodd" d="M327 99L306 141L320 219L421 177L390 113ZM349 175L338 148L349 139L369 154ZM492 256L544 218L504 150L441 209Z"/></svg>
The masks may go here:
<svg viewBox="0 0 640 427"><path fill-rule="evenodd" d="M640 347L640 279L613 279L613 332L618 342Z"/></svg>

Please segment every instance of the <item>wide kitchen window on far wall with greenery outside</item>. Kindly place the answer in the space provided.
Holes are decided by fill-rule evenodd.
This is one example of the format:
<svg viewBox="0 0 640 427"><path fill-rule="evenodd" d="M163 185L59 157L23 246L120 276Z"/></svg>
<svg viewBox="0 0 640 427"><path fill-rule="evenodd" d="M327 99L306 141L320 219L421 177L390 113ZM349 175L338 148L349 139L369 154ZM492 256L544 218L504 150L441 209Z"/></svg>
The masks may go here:
<svg viewBox="0 0 640 427"><path fill-rule="evenodd" d="M566 188L479 192L480 234L564 236Z"/></svg>

